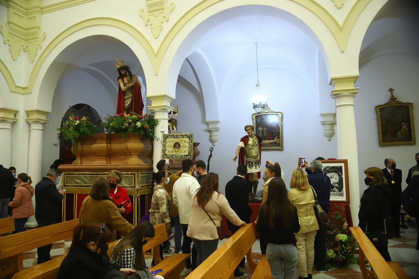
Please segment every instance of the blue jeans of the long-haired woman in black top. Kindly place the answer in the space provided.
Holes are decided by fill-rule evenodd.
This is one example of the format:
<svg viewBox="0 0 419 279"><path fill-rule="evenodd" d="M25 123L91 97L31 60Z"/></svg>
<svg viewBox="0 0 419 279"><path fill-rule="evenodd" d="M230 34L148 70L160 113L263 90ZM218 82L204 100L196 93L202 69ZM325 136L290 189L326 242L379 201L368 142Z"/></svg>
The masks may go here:
<svg viewBox="0 0 419 279"><path fill-rule="evenodd" d="M297 247L294 244L268 243L266 259L274 279L294 279L297 271ZM283 266L283 267L282 267Z"/></svg>

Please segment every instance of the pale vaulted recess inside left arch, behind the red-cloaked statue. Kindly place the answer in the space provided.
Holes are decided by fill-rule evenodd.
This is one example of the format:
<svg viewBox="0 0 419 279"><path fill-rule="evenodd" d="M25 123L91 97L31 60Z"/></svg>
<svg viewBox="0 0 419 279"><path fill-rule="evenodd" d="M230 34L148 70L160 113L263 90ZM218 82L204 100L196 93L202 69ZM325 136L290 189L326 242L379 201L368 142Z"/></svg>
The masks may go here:
<svg viewBox="0 0 419 279"><path fill-rule="evenodd" d="M82 38L65 48L52 62L41 82L40 92L44 102L51 108L44 125L43 172L51 162L59 158L58 131L62 112L75 103L84 103L97 110L100 118L116 111L118 95L118 73L115 68L116 58L124 59L131 67L132 74L140 69L140 61L134 52L122 41L104 35ZM145 105L146 82L144 71L140 71L142 97ZM57 144L57 143L56 143Z"/></svg>

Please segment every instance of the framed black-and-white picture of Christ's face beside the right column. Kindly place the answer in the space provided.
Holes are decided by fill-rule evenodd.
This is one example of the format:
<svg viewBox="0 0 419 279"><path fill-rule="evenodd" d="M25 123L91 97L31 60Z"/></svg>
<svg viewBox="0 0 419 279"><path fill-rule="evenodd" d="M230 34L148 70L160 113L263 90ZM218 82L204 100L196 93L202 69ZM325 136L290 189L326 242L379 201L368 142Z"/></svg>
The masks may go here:
<svg viewBox="0 0 419 279"><path fill-rule="evenodd" d="M331 202L349 202L348 160L320 160L323 174L330 178Z"/></svg>

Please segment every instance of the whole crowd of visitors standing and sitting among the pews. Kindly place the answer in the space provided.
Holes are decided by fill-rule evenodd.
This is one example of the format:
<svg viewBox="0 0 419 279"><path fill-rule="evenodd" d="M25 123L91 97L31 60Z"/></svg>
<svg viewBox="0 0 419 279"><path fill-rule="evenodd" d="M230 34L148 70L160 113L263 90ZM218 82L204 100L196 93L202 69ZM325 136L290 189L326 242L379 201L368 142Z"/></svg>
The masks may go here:
<svg viewBox="0 0 419 279"><path fill-rule="evenodd" d="M273 278L311 278L312 269L326 269L326 230L314 210L318 201L326 212L330 207L330 178L323 173L323 158L298 166L292 171L290 190L284 182L277 162L267 161L264 170L264 190L259 216L254 222L260 233L262 254L266 254ZM407 188L401 191L402 172L396 162L387 158L385 168L365 169L365 189L359 210L359 226L369 234L379 235L375 247L386 261L388 238L400 237L400 206L407 214L419 218L419 153L416 165L409 169ZM57 164L52 166L58 167ZM57 278L163 278L151 274L146 266L142 246L154 237L154 225L165 224L168 236L174 228L175 253L191 253L186 260L186 274L197 268L218 246L217 228L225 216L232 233L250 223L248 205L252 184L246 180L247 168L241 164L236 175L225 186L225 196L219 191L219 177L208 173L204 161L182 161L182 170L173 173L166 160L156 164L153 172L153 194L149 221L136 227L127 221L132 203L127 189L119 186L123 175L109 171L93 183L90 195L80 209L80 225L75 228L72 245L62 261ZM304 171L305 170L305 171ZM35 214L39 227L56 223L64 190L57 187L60 173L49 169L33 187L28 174L16 175L16 169L0 166L2 187L0 216L15 218L16 230L25 230L28 218ZM16 185L16 186L15 186ZM32 204L35 195L36 205ZM12 209L11 211L9 210ZM182 242L183 234L183 242ZM122 239L121 235L124 235ZM120 239L111 257L108 243ZM192 247L191 247L192 245ZM51 244L38 248L38 264L51 260ZM416 246L419 250L419 246ZM171 252L170 242L160 244L160 257ZM154 266L154 260L150 267ZM234 271L242 276L245 258ZM83 271L83 272L81 272Z"/></svg>

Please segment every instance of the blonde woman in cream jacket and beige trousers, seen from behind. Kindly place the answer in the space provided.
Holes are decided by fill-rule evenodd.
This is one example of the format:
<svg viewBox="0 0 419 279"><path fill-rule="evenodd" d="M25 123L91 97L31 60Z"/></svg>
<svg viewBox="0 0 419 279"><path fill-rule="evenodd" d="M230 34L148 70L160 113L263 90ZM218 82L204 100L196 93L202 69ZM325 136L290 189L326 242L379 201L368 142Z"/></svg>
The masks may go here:
<svg viewBox="0 0 419 279"><path fill-rule="evenodd" d="M295 233L297 239L298 270L300 278L311 278L314 262L314 238L318 230L318 223L314 212L314 195L307 175L303 169L292 172L288 198L297 207L300 231Z"/></svg>

